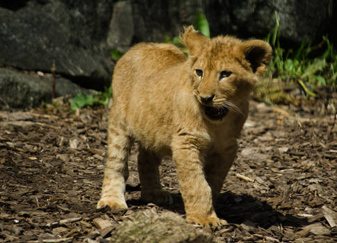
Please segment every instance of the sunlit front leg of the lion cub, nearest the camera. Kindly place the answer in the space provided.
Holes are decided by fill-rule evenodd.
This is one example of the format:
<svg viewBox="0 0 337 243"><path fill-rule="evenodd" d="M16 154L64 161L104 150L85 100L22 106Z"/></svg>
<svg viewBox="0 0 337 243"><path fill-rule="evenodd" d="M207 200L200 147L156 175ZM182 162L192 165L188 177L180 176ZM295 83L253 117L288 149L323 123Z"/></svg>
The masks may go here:
<svg viewBox="0 0 337 243"><path fill-rule="evenodd" d="M175 141L172 144L172 157L176 164L186 220L203 226L226 224L214 211L211 187L204 176L204 165L197 146Z"/></svg>

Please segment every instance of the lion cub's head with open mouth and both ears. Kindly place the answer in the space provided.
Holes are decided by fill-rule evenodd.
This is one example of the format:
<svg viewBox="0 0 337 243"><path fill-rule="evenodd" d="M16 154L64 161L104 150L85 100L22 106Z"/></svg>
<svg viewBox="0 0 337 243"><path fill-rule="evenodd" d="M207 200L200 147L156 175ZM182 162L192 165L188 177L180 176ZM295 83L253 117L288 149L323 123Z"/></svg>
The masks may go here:
<svg viewBox="0 0 337 243"><path fill-rule="evenodd" d="M268 68L272 49L263 40L242 42L231 36L212 39L185 28L181 37L189 53L189 72L193 94L205 117L222 121L229 110L242 114L257 76Z"/></svg>

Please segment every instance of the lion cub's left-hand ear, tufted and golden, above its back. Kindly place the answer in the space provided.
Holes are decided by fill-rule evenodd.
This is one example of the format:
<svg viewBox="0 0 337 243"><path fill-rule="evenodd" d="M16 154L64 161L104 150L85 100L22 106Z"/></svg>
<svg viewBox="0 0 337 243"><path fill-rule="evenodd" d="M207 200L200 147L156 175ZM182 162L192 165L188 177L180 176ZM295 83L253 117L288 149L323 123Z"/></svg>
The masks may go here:
<svg viewBox="0 0 337 243"><path fill-rule="evenodd" d="M184 28L180 38L181 43L188 49L188 53L192 56L198 56L199 51L202 50L202 46L210 40L200 31L196 31L191 25Z"/></svg>

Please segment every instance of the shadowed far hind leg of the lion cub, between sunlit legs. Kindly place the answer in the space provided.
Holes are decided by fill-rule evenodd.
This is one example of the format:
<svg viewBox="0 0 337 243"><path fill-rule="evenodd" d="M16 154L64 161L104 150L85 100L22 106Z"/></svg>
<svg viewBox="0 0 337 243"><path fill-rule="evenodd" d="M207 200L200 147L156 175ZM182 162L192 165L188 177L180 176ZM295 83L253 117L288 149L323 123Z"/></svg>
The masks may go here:
<svg viewBox="0 0 337 243"><path fill-rule="evenodd" d="M172 205L172 196L161 187L158 166L161 158L140 146L138 174L142 185L142 200L157 205Z"/></svg>

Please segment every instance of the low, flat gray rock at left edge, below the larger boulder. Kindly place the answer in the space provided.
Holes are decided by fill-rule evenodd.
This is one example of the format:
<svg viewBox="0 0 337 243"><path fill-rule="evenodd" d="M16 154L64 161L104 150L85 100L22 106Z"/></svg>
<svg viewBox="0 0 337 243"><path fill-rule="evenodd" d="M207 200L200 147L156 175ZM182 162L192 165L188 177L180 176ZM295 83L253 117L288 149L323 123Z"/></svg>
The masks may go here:
<svg viewBox="0 0 337 243"><path fill-rule="evenodd" d="M0 109L29 108L40 106L42 101L50 102L52 96L52 77L36 74L23 74L15 70L0 68ZM79 92L90 94L71 81L56 77L56 96L67 94L75 96Z"/></svg>

